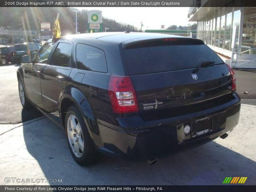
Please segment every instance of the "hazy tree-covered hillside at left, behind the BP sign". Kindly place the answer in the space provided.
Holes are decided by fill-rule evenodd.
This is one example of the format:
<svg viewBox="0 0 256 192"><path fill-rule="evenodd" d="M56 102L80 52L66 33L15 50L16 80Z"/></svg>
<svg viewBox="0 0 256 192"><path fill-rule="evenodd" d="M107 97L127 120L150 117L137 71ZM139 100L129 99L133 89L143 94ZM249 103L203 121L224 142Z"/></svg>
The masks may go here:
<svg viewBox="0 0 256 192"><path fill-rule="evenodd" d="M0 27L9 30L40 31L40 22L51 22L52 26L60 13L60 28L63 35L75 33L75 8L72 7L0 7ZM87 10L76 10L78 29L80 33L88 30ZM104 12L103 12L104 15ZM102 18L103 30L108 31L137 31L132 25Z"/></svg>

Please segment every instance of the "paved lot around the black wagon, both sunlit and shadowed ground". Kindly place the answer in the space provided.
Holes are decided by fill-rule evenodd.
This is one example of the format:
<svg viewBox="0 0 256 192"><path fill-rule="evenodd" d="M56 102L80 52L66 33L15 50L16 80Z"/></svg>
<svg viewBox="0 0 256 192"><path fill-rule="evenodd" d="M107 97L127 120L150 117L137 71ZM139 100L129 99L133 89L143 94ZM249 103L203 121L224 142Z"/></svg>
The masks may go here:
<svg viewBox="0 0 256 192"><path fill-rule="evenodd" d="M225 177L248 177L246 184L256 185L255 99L242 100L239 124L224 140L159 159L152 166L104 156L97 164L81 167L68 150L64 130L36 109L22 109L17 68L0 66L0 185L22 184L6 183L6 177L61 179L54 183L60 185L221 185ZM252 95L249 88L255 81L250 79L246 87L240 72L237 92ZM255 78L253 72L242 74Z"/></svg>

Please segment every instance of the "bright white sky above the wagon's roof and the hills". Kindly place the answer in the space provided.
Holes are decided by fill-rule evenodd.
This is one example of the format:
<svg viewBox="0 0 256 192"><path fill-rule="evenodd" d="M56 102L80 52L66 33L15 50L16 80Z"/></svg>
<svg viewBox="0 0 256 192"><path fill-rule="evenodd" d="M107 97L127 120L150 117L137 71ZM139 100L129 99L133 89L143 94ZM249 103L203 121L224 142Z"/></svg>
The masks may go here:
<svg viewBox="0 0 256 192"><path fill-rule="evenodd" d="M140 29L140 22L143 22L142 30L160 29L170 25L184 26L188 23L189 7L77 7L78 9L100 10L102 16L116 20Z"/></svg>

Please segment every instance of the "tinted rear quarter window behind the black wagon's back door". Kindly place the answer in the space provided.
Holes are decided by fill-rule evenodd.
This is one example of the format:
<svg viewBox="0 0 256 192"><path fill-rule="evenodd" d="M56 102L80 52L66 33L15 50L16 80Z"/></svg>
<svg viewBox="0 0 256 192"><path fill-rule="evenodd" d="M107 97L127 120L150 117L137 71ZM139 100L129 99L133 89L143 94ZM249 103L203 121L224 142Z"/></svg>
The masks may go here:
<svg viewBox="0 0 256 192"><path fill-rule="evenodd" d="M104 51L85 44L76 45L76 66L88 71L108 72Z"/></svg>

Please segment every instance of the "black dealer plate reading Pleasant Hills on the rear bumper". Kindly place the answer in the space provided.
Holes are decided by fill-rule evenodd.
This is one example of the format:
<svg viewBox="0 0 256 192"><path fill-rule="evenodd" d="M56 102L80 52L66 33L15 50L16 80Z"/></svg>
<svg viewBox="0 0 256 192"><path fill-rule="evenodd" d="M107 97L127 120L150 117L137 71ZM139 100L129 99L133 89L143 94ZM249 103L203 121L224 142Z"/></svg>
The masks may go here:
<svg viewBox="0 0 256 192"><path fill-rule="evenodd" d="M206 117L191 123L191 137L204 135L212 131L212 118Z"/></svg>

